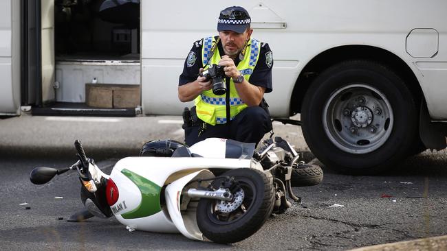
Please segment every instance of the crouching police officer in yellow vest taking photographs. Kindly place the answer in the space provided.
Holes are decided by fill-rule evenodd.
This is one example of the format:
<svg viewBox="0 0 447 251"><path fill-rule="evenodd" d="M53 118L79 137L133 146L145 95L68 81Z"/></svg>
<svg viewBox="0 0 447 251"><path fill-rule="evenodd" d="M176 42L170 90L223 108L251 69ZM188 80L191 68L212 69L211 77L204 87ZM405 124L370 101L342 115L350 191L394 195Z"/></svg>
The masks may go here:
<svg viewBox="0 0 447 251"><path fill-rule="evenodd" d="M219 36L197 40L190 50L178 88L180 101L195 101L192 121L184 126L187 145L210 137L258 143L272 130L263 99L272 91L272 51L252 38L250 23L246 9L228 7L219 15ZM215 95L211 81L199 75L212 64L223 67L223 95Z"/></svg>

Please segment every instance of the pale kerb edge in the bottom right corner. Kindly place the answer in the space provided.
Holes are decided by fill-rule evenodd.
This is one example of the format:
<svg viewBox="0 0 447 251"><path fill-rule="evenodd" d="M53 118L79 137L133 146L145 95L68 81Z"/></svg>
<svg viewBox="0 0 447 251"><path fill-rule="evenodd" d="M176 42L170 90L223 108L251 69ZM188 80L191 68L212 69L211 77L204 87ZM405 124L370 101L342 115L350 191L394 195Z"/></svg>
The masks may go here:
<svg viewBox="0 0 447 251"><path fill-rule="evenodd" d="M400 241L386 243L363 248L356 248L349 251L407 251L407 250L447 250L447 235L415 239L412 241Z"/></svg>

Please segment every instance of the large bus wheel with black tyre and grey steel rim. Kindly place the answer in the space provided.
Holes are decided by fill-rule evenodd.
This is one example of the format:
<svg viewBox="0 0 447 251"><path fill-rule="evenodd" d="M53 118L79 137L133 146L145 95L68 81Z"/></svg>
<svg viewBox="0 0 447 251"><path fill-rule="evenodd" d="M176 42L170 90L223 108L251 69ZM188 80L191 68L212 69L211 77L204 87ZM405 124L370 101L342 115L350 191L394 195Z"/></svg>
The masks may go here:
<svg viewBox="0 0 447 251"><path fill-rule="evenodd" d="M316 77L301 120L315 156L348 174L393 167L417 136L411 92L393 71L367 60L340 62Z"/></svg>

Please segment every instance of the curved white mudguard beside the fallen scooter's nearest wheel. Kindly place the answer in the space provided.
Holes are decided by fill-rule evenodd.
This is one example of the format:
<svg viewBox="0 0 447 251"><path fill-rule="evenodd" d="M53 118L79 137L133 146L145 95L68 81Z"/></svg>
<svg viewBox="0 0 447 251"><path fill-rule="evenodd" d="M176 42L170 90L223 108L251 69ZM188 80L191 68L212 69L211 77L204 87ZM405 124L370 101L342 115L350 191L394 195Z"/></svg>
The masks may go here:
<svg viewBox="0 0 447 251"><path fill-rule="evenodd" d="M182 191L187 191L193 187L197 188L197 182L189 183L191 180L210 179L214 177L212 172L207 169L195 171L193 174L188 174L168 184L164 191L166 206L173 224L182 232L182 235L189 239L203 240L196 220L199 199L190 198L186 193L182 193ZM209 182L202 181L200 185L201 187L206 187L208 184Z"/></svg>

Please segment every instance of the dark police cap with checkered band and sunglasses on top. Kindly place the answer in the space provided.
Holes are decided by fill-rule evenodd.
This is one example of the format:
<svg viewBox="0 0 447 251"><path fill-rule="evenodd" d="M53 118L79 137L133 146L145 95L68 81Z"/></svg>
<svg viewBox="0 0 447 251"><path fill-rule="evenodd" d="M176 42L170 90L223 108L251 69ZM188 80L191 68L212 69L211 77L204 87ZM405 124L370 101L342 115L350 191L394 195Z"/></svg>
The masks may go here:
<svg viewBox="0 0 447 251"><path fill-rule="evenodd" d="M232 6L220 12L219 20L217 21L217 31L230 30L243 33L250 23L250 15L246 9L241 6Z"/></svg>

